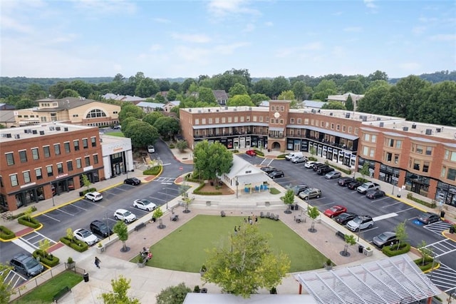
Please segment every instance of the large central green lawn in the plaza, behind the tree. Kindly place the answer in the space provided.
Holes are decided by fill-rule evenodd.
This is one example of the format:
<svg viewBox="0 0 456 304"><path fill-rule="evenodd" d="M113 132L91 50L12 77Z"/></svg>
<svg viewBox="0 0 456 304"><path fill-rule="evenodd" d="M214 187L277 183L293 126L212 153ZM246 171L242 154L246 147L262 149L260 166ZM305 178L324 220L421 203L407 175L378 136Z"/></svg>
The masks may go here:
<svg viewBox="0 0 456 304"><path fill-rule="evenodd" d="M234 226L243 223L244 217L238 216L196 216L153 245L153 258L147 265L197 273L206 260L205 249L229 245ZM321 268L326 261L324 255L281 221L258 218L258 225L261 232L271 236L271 249L289 256L290 272Z"/></svg>

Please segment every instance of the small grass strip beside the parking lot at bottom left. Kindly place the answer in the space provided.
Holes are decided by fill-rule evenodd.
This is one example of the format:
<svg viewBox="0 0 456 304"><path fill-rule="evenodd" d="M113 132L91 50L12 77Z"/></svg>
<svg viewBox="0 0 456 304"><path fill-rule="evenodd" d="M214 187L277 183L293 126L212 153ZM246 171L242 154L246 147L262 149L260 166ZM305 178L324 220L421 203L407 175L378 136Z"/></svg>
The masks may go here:
<svg viewBox="0 0 456 304"><path fill-rule="evenodd" d="M65 286L73 288L82 280L82 275L73 273L71 271L64 271L63 273L51 278L51 280L48 280L46 283L43 283L43 285L39 285L30 293L24 295L24 297L21 297L18 300L14 300L12 303L52 303L53 296L56 295L56 293L58 293L62 288Z"/></svg>

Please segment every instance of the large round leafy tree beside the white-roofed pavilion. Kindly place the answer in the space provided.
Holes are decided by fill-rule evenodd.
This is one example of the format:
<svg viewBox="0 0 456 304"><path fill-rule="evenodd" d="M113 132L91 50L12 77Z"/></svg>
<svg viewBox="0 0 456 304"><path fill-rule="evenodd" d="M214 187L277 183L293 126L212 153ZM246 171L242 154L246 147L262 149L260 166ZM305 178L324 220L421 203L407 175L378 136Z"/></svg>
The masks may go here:
<svg viewBox="0 0 456 304"><path fill-rule="evenodd" d="M204 179L214 179L228 173L233 165L233 154L218 141L201 141L193 151L195 173Z"/></svg>

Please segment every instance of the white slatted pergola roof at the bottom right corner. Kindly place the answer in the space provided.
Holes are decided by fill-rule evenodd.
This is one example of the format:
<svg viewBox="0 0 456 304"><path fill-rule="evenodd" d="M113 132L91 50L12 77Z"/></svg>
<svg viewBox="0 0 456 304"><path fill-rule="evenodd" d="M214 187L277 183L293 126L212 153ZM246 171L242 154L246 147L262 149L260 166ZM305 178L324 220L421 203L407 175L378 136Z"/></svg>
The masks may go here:
<svg viewBox="0 0 456 304"><path fill-rule="evenodd" d="M304 286L322 304L405 304L441 293L406 254L295 278L299 293Z"/></svg>

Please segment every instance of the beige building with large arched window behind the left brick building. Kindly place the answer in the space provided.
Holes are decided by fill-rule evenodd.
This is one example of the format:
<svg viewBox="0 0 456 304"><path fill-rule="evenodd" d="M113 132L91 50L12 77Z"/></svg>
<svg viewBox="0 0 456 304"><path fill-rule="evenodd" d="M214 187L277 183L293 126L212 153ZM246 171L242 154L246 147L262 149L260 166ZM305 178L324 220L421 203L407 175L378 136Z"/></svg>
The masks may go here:
<svg viewBox="0 0 456 304"><path fill-rule="evenodd" d="M109 126L118 124L120 106L86 98L45 98L36 101L35 108L14 111L16 126L61 121L84 126Z"/></svg>

